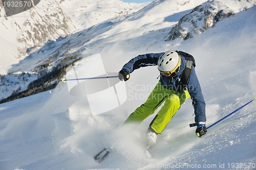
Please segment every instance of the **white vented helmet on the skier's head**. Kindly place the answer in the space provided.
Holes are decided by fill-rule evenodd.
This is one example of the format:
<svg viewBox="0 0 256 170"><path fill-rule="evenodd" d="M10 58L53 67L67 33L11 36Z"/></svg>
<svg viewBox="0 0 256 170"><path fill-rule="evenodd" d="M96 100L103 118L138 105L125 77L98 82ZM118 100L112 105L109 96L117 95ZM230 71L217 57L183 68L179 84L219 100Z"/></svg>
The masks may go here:
<svg viewBox="0 0 256 170"><path fill-rule="evenodd" d="M159 57L157 66L160 72L173 72L180 66L181 58L176 51L167 51Z"/></svg>

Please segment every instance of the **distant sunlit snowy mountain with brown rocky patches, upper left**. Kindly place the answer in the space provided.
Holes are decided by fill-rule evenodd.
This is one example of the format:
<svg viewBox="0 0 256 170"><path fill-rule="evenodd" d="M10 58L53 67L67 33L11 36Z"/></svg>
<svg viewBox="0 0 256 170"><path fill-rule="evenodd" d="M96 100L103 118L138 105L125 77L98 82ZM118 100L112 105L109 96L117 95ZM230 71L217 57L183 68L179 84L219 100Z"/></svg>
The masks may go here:
<svg viewBox="0 0 256 170"><path fill-rule="evenodd" d="M118 0L41 0L25 12L6 17L4 6L0 3L0 58L3 61L0 74L9 74L8 69L12 64L38 50L49 40L55 41L106 19L133 13L146 4L136 5Z"/></svg>

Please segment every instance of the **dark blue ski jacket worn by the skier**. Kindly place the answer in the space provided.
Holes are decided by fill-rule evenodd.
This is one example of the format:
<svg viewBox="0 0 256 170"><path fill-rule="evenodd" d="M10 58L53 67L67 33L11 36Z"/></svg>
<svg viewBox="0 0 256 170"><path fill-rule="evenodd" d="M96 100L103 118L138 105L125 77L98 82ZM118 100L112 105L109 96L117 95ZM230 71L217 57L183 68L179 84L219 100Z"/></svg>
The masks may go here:
<svg viewBox="0 0 256 170"><path fill-rule="evenodd" d="M127 62L122 69L127 70L129 73L132 73L135 69L138 69L140 67L156 66L158 58L162 54L163 53L151 53L151 54L139 55L131 59L129 62ZM185 58L181 55L181 66L180 66L179 72L172 78L165 77L162 74L160 74L161 84L169 90L176 90L176 91L183 90L184 85L181 84L180 79L185 69L185 66L186 66ZM188 80L185 86L193 101L192 104L195 109L195 122L197 124L205 124L206 122L205 101L203 98L202 90L201 90L194 66L192 66L191 68L190 76L188 77Z"/></svg>

